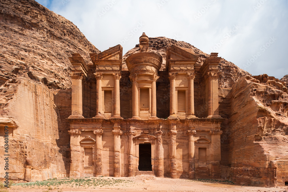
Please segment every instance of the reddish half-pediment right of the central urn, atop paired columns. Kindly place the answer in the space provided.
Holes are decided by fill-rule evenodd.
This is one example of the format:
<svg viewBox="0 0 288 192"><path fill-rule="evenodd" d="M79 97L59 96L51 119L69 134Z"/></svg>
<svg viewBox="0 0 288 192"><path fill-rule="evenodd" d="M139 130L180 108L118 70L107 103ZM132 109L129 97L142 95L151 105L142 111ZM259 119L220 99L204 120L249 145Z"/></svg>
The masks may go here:
<svg viewBox="0 0 288 192"><path fill-rule="evenodd" d="M180 47L177 47L175 45L171 45L168 47L167 49L167 60L176 60L176 59L198 59L198 56L192 54L191 52L193 52L192 50L190 52Z"/></svg>

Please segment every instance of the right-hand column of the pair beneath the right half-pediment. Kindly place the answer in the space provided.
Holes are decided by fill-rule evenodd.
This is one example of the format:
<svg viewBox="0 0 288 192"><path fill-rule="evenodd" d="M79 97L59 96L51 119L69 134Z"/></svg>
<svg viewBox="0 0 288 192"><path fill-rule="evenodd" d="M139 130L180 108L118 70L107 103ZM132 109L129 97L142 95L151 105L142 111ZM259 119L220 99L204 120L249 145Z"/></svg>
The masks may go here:
<svg viewBox="0 0 288 192"><path fill-rule="evenodd" d="M194 73L187 73L188 76L188 111L187 117L195 117L194 112Z"/></svg>

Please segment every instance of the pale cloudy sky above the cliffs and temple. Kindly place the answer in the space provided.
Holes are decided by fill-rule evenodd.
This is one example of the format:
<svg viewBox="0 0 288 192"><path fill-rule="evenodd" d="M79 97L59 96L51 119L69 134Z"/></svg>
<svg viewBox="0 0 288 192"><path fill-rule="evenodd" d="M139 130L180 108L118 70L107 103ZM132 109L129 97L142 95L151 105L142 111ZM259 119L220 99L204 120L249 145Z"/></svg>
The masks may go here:
<svg viewBox="0 0 288 192"><path fill-rule="evenodd" d="M104 51L148 37L185 41L252 75L288 74L288 0L36 0Z"/></svg>

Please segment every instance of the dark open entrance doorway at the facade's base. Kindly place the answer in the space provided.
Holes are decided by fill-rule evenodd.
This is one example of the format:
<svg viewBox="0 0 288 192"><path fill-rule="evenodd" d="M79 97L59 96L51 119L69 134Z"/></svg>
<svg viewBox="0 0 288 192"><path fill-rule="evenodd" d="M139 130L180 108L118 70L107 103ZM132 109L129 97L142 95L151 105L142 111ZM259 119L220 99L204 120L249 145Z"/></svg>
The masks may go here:
<svg viewBox="0 0 288 192"><path fill-rule="evenodd" d="M151 143L139 144L139 171L152 171Z"/></svg>

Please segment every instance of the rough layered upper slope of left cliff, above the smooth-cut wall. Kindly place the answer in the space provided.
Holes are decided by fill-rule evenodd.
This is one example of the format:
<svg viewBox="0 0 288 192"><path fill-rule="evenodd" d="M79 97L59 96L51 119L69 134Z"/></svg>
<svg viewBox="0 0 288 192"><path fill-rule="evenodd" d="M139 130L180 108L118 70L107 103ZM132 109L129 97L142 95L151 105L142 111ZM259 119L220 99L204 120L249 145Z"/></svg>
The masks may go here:
<svg viewBox="0 0 288 192"><path fill-rule="evenodd" d="M71 87L67 55L100 52L71 21L33 0L1 0L0 81L25 77L49 88Z"/></svg>

